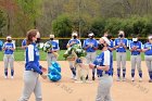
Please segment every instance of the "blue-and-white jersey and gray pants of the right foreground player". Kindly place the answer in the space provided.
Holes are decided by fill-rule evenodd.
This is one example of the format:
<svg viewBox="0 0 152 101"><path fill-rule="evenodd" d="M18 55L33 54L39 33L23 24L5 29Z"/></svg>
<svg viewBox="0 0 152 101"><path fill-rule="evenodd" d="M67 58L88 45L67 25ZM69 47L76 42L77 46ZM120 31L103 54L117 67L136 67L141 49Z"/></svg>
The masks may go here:
<svg viewBox="0 0 152 101"><path fill-rule="evenodd" d="M98 94L96 101L112 101L110 89L113 84L112 78L112 68L113 68L113 55L110 50L102 51L94 60L93 64L99 66L109 65L109 71L98 71L99 76L99 86L98 86Z"/></svg>

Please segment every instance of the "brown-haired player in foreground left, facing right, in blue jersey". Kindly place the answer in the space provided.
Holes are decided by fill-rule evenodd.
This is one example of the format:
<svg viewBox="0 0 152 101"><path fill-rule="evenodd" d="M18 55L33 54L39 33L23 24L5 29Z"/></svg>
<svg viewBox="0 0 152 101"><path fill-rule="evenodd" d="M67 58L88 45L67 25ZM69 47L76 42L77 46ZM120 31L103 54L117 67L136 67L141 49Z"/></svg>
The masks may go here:
<svg viewBox="0 0 152 101"><path fill-rule="evenodd" d="M42 72L43 67L39 65L39 51L36 47L38 34L37 29L31 29L27 33L24 90L18 101L28 101L33 92L36 96L36 101L42 101L39 75L41 75L43 79L47 78L47 75Z"/></svg>

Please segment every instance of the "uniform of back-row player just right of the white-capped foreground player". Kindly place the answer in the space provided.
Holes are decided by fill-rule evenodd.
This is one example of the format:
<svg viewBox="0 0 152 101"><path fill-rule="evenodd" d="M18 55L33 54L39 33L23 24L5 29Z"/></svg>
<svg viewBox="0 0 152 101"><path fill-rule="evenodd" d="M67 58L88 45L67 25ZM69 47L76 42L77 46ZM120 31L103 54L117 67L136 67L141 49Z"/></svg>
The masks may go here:
<svg viewBox="0 0 152 101"><path fill-rule="evenodd" d="M126 47L128 47L128 39L124 38L116 38L114 41L114 46L118 46L119 43L124 43ZM123 68L123 78L125 78L126 75L126 49L124 47L118 47L116 49L116 62L117 62L117 77L121 77L121 66Z"/></svg>

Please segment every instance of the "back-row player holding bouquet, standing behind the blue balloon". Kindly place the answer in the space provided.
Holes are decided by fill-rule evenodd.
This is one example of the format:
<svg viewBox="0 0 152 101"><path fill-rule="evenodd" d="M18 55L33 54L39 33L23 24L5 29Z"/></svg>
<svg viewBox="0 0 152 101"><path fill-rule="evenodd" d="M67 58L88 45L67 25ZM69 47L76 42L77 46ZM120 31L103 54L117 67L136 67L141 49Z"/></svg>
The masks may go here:
<svg viewBox="0 0 152 101"><path fill-rule="evenodd" d="M51 66L51 62L56 62L56 56L53 54L53 52L56 52L60 50L59 43L54 41L53 39L54 39L54 35L50 35L50 40L47 41L51 43L53 47L52 49L50 49L50 51L47 54L48 67Z"/></svg>

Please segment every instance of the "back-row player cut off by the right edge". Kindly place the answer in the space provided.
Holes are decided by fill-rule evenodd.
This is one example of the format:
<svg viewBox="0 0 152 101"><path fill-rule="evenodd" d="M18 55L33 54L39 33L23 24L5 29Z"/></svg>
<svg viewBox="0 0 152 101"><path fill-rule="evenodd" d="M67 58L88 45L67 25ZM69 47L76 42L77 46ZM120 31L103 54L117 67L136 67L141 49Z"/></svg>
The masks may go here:
<svg viewBox="0 0 152 101"><path fill-rule="evenodd" d="M150 35L148 39L149 41L144 43L143 52L150 76L149 83L152 83L152 35Z"/></svg>

